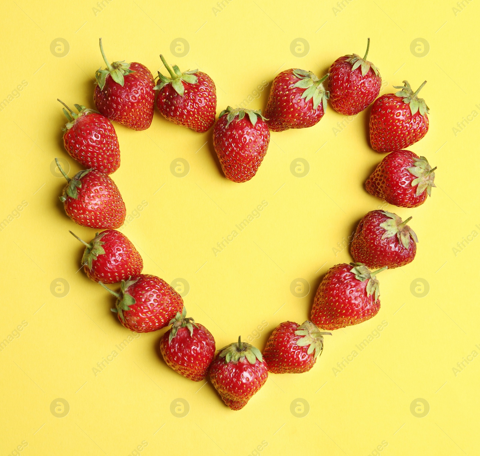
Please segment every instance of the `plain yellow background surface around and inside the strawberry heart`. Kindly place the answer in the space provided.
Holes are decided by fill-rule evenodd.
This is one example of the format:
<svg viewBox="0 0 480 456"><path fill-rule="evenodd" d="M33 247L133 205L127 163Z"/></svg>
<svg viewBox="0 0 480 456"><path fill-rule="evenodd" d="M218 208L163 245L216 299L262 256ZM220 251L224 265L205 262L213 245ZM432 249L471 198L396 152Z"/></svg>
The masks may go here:
<svg viewBox="0 0 480 456"><path fill-rule="evenodd" d="M445 0L3 2L1 454L478 455L479 11ZM206 72L217 112L264 109L276 73L322 75L341 55L363 55L367 37L381 93L428 81L430 131L410 149L438 166L437 188L413 210L362 187L384 156L369 146L368 110L346 119L329 108L312 128L273 133L240 185L219 170L211 132L157 112L144 132L115 124L123 232L145 273L188 291L189 315L217 348L241 334L263 349L278 323L309 318L325 271L351 261L348 236L367 211L413 215L417 258L380 275L379 314L327 337L310 372L270 375L239 412L165 365L164 330L132 337L111 296L77 271L83 249L68 230L96 230L58 200L53 159L71 175L80 167L63 149L56 99L93 107L98 37L110 61L155 73L162 52Z"/></svg>

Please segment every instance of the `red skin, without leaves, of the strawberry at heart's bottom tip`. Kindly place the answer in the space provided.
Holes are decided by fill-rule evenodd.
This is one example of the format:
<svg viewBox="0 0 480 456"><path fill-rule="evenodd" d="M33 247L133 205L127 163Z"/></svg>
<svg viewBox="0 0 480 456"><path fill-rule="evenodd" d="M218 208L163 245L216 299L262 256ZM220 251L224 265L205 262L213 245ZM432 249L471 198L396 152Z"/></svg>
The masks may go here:
<svg viewBox="0 0 480 456"><path fill-rule="evenodd" d="M258 359L255 364L250 364L247 358L240 359L236 364L231 361L226 363L217 353L209 374L223 402L232 410L240 410L264 385L268 369L266 363Z"/></svg>

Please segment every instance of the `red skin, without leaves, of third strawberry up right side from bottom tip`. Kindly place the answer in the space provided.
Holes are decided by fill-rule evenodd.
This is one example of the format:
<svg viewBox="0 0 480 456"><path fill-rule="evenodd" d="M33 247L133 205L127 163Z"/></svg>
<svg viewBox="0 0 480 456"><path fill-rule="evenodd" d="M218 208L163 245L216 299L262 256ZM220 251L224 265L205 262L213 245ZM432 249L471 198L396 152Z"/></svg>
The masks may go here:
<svg viewBox="0 0 480 456"><path fill-rule="evenodd" d="M380 226L389 218L381 210L368 212L357 226L351 244L351 253L355 261L363 263L369 269L399 268L411 263L417 252L417 243L410 239L408 248L403 246L396 235L382 239L385 229Z"/></svg>

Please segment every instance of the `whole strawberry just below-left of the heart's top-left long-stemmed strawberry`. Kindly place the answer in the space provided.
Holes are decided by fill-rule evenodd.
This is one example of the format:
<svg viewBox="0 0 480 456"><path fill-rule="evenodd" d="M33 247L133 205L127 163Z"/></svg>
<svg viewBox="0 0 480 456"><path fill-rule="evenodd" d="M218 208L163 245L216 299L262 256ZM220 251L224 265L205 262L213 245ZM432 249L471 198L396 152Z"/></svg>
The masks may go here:
<svg viewBox="0 0 480 456"><path fill-rule="evenodd" d="M74 105L78 114L63 101L68 122L63 131L63 145L72 158L87 168L111 174L120 167L120 146L112 123L102 114ZM68 111L67 111L68 110Z"/></svg>

